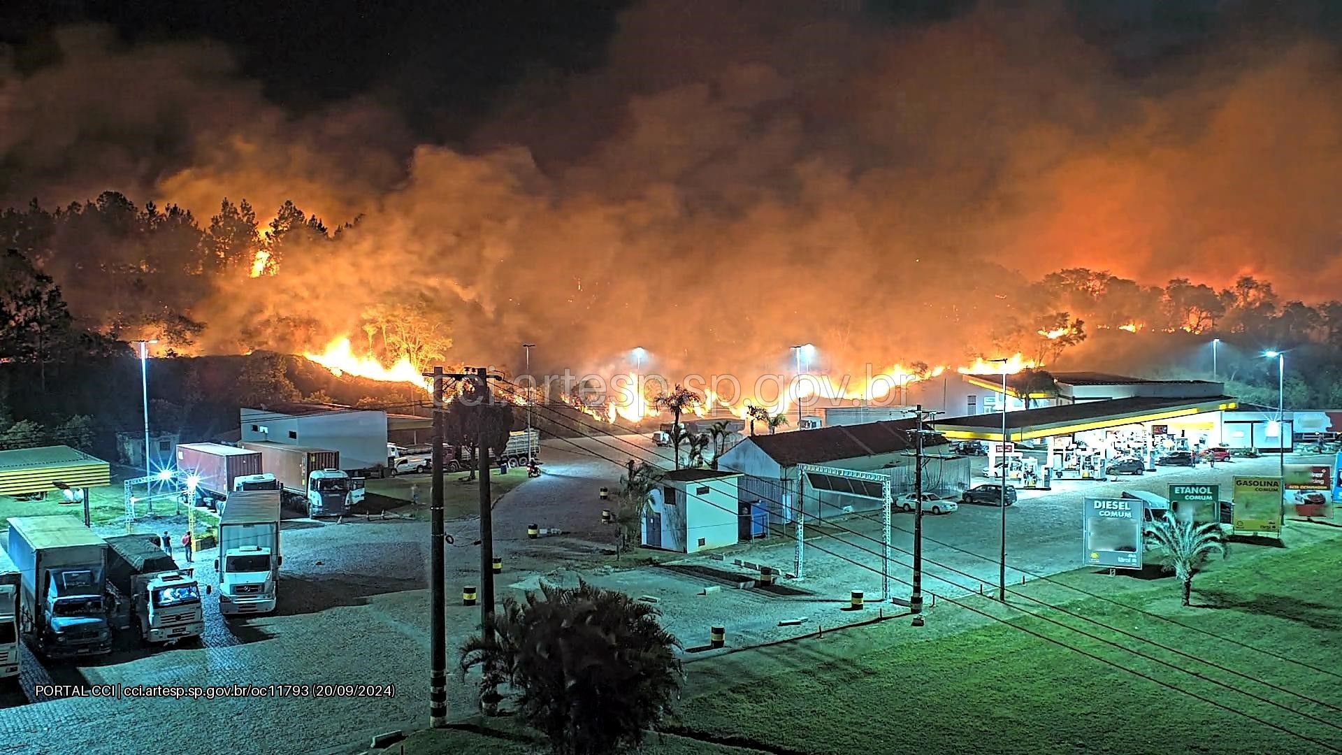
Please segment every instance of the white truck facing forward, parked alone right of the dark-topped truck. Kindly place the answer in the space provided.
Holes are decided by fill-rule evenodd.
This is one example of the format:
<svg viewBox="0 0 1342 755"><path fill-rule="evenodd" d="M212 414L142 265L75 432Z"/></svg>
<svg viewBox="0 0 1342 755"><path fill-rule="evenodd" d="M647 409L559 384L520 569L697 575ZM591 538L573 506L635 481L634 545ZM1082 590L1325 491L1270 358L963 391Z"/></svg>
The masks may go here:
<svg viewBox="0 0 1342 755"><path fill-rule="evenodd" d="M219 515L219 613L275 610L279 552L279 490L235 490Z"/></svg>

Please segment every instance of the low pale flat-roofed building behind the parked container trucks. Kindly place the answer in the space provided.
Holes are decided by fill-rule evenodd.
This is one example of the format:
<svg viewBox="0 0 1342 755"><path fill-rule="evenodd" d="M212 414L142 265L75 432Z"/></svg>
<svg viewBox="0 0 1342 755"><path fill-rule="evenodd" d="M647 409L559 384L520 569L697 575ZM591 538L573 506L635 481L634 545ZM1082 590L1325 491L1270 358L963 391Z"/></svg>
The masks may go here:
<svg viewBox="0 0 1342 755"><path fill-rule="evenodd" d="M346 472L386 466L386 412L336 404L274 404L243 408L242 439L340 451Z"/></svg>

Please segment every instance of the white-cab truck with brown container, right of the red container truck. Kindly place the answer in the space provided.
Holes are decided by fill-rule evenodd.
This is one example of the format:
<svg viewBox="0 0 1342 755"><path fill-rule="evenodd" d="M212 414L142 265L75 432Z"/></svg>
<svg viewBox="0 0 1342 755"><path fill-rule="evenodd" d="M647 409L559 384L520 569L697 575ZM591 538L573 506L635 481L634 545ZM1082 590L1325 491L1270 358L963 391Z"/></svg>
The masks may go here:
<svg viewBox="0 0 1342 755"><path fill-rule="evenodd" d="M340 469L340 451L274 441L244 441L243 447L260 454L262 469L279 482L283 502L307 516L344 516L354 504L354 484Z"/></svg>

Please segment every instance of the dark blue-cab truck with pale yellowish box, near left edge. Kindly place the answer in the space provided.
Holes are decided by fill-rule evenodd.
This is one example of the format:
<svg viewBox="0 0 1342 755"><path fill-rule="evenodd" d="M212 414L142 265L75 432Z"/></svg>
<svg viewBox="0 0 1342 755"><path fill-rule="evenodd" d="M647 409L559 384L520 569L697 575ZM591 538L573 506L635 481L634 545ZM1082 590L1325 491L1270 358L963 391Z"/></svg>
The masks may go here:
<svg viewBox="0 0 1342 755"><path fill-rule="evenodd" d="M70 658L111 650L102 537L72 516L16 516L9 558L20 574L19 631L36 652Z"/></svg>

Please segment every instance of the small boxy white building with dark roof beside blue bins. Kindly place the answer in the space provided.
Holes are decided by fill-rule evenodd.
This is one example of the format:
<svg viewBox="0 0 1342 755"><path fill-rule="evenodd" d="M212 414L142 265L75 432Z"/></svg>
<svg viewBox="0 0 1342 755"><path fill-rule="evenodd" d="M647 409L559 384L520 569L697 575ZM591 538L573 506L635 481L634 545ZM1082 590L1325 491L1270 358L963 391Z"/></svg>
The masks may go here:
<svg viewBox="0 0 1342 755"><path fill-rule="evenodd" d="M741 531L739 477L713 469L678 469L662 476L643 516L643 544L682 553L735 545Z"/></svg>

